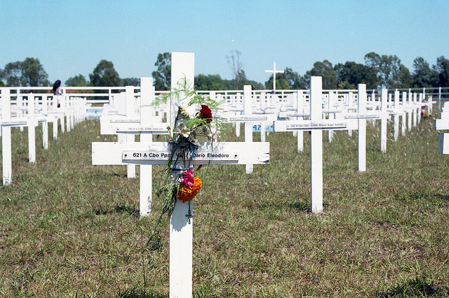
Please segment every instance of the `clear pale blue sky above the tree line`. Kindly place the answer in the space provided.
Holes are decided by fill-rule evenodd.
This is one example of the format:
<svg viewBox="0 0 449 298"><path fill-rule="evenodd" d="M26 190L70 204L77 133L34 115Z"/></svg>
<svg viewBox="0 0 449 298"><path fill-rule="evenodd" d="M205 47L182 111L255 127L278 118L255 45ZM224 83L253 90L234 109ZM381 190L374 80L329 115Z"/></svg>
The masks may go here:
<svg viewBox="0 0 449 298"><path fill-rule="evenodd" d="M0 69L38 58L53 82L101 59L121 78L151 76L160 52L194 52L195 74L232 78L226 56L241 52L247 78L314 62L364 63L368 52L429 64L449 58L449 1L2 0Z"/></svg>

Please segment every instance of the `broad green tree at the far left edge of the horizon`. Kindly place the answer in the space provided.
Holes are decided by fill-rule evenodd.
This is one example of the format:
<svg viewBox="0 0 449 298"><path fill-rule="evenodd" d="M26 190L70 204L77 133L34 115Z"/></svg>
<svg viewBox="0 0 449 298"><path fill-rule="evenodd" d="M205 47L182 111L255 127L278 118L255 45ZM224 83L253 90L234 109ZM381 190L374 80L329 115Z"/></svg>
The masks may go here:
<svg viewBox="0 0 449 298"><path fill-rule="evenodd" d="M10 62L2 71L1 80L11 87L39 87L48 86L48 74L41 62L36 58L27 58L22 62Z"/></svg>

